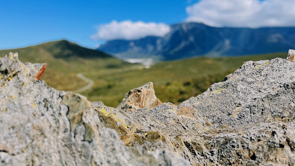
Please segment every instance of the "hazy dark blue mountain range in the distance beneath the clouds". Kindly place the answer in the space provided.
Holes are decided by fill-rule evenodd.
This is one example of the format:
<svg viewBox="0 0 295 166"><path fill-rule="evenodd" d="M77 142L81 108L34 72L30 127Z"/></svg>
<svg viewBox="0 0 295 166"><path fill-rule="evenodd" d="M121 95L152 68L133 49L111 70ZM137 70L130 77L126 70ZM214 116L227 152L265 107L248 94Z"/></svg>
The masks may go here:
<svg viewBox="0 0 295 166"><path fill-rule="evenodd" d="M97 50L119 58L160 60L194 56L237 56L285 52L295 48L295 27L229 28L202 23L173 24L164 37L110 40Z"/></svg>

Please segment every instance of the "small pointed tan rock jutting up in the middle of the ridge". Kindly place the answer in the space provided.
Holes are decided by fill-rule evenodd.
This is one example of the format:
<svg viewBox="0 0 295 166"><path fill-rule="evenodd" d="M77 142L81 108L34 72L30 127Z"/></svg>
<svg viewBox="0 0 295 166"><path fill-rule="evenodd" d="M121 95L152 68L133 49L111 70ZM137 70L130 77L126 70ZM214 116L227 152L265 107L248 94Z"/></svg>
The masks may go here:
<svg viewBox="0 0 295 166"><path fill-rule="evenodd" d="M161 104L161 101L155 96L153 83L150 82L139 88L130 90L117 109L135 111L144 107L153 108L159 104Z"/></svg>

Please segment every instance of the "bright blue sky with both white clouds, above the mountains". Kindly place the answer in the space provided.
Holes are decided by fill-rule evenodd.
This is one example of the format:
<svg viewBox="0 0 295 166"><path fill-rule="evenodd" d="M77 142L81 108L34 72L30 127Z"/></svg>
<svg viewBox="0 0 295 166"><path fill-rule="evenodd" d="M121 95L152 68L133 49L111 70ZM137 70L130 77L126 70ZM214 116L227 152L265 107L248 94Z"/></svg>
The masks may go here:
<svg viewBox="0 0 295 166"><path fill-rule="evenodd" d="M262 27L294 26L294 18L295 0L0 0L0 49L60 39L95 48L111 39L163 36L168 25L185 21Z"/></svg>

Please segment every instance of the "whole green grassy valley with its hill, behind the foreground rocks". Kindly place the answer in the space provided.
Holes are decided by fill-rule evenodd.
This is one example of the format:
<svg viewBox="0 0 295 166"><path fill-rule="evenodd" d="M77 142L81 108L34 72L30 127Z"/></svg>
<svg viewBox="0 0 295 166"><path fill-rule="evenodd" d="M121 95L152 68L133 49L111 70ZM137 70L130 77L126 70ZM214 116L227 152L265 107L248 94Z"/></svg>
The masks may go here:
<svg viewBox="0 0 295 166"><path fill-rule="evenodd" d="M14 50L0 50L0 56L3 57L9 51L18 52L23 63L47 63L42 80L58 90L75 91L86 86L88 83L77 77L77 73L82 73L93 80L94 85L81 94L89 101L102 101L112 107L117 107L130 89L148 82L154 83L155 94L162 102L179 104L203 93L213 83L222 81L245 61L286 58L286 53L196 57L162 62L143 69L141 65L126 63L65 40Z"/></svg>

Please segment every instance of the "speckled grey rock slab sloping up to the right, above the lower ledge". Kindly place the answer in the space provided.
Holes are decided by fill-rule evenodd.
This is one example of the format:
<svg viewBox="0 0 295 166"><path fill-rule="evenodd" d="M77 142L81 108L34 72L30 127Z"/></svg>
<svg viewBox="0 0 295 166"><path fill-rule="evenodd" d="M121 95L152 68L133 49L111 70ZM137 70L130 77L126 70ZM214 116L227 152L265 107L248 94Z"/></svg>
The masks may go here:
<svg viewBox="0 0 295 166"><path fill-rule="evenodd" d="M281 58L245 62L227 80L215 83L191 104L213 125L230 129L295 118L295 62Z"/></svg>

